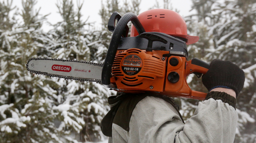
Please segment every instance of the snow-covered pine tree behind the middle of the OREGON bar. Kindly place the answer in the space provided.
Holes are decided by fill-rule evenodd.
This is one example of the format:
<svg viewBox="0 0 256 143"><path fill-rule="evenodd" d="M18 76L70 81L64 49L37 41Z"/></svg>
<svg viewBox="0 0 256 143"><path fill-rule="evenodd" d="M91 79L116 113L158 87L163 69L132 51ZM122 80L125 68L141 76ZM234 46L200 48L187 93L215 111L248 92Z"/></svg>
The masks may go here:
<svg viewBox="0 0 256 143"><path fill-rule="evenodd" d="M90 25L82 20L81 8L75 9L72 0L59 1L57 7L63 21L54 25L49 35L54 41L48 47L54 58L102 62L101 53L106 48L100 43L99 36L93 30L86 30ZM93 27L90 27L93 29ZM103 116L109 110L107 97L113 91L99 83L57 79L57 90L53 106L57 113L56 123L59 130L65 131L68 142L99 141L104 139L100 130Z"/></svg>

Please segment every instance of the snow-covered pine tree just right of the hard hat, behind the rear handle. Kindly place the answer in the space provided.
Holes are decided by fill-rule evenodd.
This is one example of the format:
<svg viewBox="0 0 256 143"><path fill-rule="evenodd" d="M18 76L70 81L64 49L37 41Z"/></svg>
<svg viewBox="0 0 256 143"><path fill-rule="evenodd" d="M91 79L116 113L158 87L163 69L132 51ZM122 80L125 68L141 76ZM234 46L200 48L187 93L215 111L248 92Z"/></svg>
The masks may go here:
<svg viewBox="0 0 256 143"><path fill-rule="evenodd" d="M195 44L188 45L188 60L198 58L205 62L210 61L205 58L213 49L211 36L208 34L209 26L213 23L211 10L213 9L216 0L192 0L191 10L194 14L184 17L188 35L199 36L199 41ZM202 78L197 78L196 75L191 74L187 78L188 85L192 90L207 93L207 89L202 84ZM181 113L184 120L188 120L196 110L199 100L181 99L182 108Z"/></svg>

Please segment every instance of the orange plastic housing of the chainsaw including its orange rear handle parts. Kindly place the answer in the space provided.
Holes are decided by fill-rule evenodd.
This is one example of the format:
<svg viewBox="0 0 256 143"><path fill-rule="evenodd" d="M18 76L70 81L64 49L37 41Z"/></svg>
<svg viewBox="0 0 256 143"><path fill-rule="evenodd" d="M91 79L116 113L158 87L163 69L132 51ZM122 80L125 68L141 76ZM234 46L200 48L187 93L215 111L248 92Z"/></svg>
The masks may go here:
<svg viewBox="0 0 256 143"><path fill-rule="evenodd" d="M169 97L205 99L206 93L190 89L186 77L193 72L205 74L208 69L191 64L186 57L163 57L168 53L160 50L146 52L134 48L117 50L110 78L111 83L117 86L114 90L125 93L149 91ZM170 63L172 58L178 60L175 66ZM172 72L176 72L176 77L179 76L178 81L168 79Z"/></svg>

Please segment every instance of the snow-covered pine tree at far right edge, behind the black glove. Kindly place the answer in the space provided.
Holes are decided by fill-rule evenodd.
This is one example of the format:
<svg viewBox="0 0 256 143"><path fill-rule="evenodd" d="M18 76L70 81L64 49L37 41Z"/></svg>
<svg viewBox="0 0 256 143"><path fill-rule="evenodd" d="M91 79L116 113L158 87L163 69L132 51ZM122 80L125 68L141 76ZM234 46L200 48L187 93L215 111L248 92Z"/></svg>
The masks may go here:
<svg viewBox="0 0 256 143"><path fill-rule="evenodd" d="M230 60L244 69L246 81L236 104L239 118L235 142L256 142L256 1L225 1L215 9L210 34L216 50L206 57Z"/></svg>

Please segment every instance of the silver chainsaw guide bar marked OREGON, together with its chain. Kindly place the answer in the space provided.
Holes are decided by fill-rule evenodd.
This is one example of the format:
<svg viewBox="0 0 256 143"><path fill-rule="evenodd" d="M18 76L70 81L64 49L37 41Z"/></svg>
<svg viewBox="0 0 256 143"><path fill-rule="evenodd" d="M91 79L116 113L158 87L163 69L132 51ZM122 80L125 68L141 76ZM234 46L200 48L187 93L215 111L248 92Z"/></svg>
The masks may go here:
<svg viewBox="0 0 256 143"><path fill-rule="evenodd" d="M102 67L102 63L33 57L26 64L27 70L31 73L97 83L102 82Z"/></svg>

